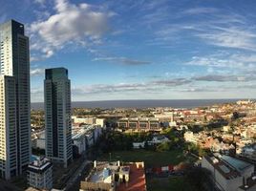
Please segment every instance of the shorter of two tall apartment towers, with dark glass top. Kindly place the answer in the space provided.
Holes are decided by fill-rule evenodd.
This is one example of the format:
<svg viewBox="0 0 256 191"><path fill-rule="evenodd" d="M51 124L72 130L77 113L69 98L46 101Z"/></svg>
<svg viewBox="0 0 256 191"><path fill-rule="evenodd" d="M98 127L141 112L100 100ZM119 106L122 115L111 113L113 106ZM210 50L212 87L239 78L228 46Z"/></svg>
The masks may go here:
<svg viewBox="0 0 256 191"><path fill-rule="evenodd" d="M73 159L71 82L65 68L45 71L46 157L67 167Z"/></svg>

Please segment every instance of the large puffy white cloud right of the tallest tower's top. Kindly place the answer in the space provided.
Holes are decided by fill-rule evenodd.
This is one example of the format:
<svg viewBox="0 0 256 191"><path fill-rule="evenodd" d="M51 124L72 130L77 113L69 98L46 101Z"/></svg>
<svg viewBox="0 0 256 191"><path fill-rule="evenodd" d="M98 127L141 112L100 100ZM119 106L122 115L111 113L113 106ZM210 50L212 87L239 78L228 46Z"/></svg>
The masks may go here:
<svg viewBox="0 0 256 191"><path fill-rule="evenodd" d="M100 7L86 3L75 5L68 0L55 0L54 10L53 15L33 22L30 27L31 48L45 53L45 57L67 44L98 43L109 31L109 18L114 15Z"/></svg>

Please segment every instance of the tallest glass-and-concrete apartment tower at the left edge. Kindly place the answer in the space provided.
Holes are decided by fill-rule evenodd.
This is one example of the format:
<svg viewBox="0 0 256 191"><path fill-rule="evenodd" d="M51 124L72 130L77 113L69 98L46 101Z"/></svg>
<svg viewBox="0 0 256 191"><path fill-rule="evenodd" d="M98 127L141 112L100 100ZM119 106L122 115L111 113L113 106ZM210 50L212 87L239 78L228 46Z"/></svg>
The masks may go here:
<svg viewBox="0 0 256 191"><path fill-rule="evenodd" d="M0 25L0 177L9 180L31 159L29 38L24 25Z"/></svg>

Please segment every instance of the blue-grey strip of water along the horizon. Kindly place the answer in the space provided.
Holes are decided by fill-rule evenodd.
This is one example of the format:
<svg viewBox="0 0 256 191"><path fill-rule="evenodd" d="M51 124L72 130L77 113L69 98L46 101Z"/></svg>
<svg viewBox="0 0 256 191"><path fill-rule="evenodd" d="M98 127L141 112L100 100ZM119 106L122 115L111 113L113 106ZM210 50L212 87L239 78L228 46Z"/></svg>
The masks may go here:
<svg viewBox="0 0 256 191"><path fill-rule="evenodd" d="M240 99L137 99L137 100L105 100L105 101L75 101L73 108L148 108L148 107L173 107L193 108L210 106L220 103L236 102ZM43 109L42 102L32 103L32 109Z"/></svg>

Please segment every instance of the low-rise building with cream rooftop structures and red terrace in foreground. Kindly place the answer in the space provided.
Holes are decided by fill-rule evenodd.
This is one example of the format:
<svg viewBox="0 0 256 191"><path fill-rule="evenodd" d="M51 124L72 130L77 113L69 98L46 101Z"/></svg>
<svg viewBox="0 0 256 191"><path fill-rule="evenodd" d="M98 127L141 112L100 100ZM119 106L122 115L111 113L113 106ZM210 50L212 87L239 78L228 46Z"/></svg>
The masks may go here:
<svg viewBox="0 0 256 191"><path fill-rule="evenodd" d="M80 191L145 191L144 162L94 162L89 176L81 181Z"/></svg>

